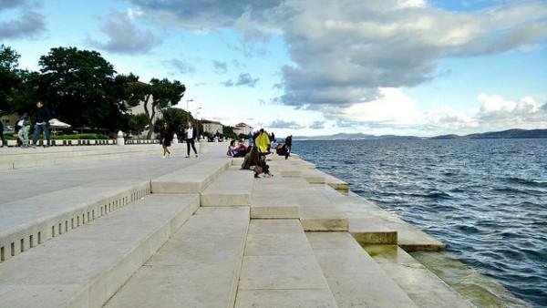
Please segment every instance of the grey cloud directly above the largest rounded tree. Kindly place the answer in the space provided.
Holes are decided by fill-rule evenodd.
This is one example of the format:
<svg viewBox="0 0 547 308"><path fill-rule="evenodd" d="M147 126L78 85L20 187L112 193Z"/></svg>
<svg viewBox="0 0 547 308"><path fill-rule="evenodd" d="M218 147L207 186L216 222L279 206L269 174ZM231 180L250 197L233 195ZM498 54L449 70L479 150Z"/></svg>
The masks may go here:
<svg viewBox="0 0 547 308"><path fill-rule="evenodd" d="M161 39L151 30L137 26L135 19L138 16L139 14L134 12L113 12L100 26L100 30L108 37L107 41L89 39L89 42L93 46L117 54L138 55L150 52L152 48L161 44Z"/></svg>

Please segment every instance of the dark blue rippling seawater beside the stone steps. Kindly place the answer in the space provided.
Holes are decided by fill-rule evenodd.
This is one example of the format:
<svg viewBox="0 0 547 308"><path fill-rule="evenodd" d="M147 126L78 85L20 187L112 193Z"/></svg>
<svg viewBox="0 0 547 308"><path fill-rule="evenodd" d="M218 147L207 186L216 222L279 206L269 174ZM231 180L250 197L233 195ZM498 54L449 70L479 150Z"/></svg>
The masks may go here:
<svg viewBox="0 0 547 308"><path fill-rule="evenodd" d="M310 140L293 151L547 307L547 139Z"/></svg>

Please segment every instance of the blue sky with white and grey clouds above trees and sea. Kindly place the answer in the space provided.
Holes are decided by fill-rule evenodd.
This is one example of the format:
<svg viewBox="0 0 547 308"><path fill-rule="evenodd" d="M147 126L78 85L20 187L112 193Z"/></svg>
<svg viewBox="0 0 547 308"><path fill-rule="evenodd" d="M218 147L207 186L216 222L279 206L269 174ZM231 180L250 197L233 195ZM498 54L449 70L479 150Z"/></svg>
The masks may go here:
<svg viewBox="0 0 547 308"><path fill-rule="evenodd" d="M0 0L0 44L97 50L277 136L547 128L547 1Z"/></svg>

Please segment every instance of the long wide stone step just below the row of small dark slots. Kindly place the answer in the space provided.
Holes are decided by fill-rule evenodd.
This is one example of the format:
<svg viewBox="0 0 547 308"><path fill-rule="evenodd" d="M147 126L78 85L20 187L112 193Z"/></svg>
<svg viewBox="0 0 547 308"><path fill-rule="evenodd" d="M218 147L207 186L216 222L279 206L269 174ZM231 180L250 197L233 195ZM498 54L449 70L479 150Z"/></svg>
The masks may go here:
<svg viewBox="0 0 547 308"><path fill-rule="evenodd" d="M0 266L5 307L101 307L198 209L151 195Z"/></svg>

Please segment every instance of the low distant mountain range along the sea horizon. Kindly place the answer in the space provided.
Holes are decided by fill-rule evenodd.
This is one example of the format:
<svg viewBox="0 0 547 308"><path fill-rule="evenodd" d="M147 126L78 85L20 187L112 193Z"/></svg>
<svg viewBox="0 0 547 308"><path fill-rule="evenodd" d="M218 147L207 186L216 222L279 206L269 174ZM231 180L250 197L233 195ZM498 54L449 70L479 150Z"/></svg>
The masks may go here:
<svg viewBox="0 0 547 308"><path fill-rule="evenodd" d="M416 137L416 136L397 136L397 135L367 135L363 133L346 134L339 133L328 136L294 136L294 140L387 140L387 139L538 139L547 138L547 129L508 129L503 131L490 131L480 134L470 134L465 136L459 135L442 135L436 137Z"/></svg>

